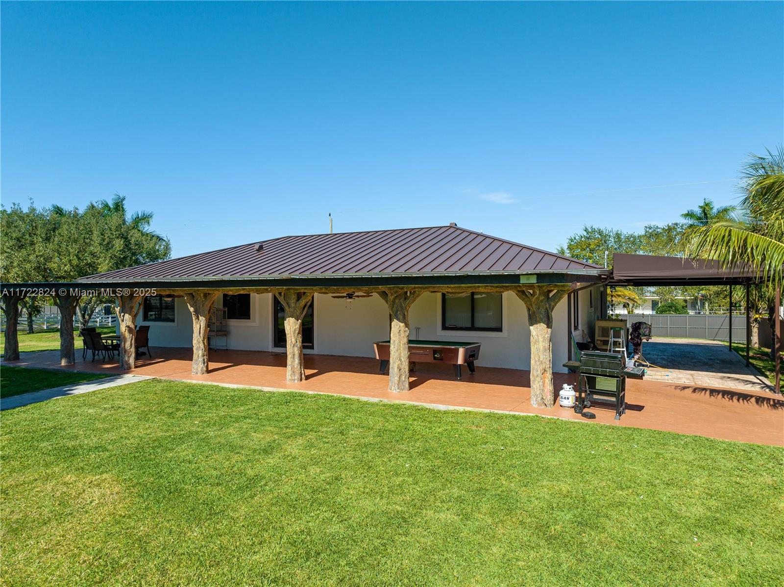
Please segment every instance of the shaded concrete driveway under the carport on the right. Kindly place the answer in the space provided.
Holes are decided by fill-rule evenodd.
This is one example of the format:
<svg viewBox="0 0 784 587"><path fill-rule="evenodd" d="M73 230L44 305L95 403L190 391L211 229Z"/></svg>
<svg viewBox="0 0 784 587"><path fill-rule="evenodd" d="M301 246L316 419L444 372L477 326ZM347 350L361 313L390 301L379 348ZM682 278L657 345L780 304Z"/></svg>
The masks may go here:
<svg viewBox="0 0 784 587"><path fill-rule="evenodd" d="M644 342L642 354L655 367L645 378L670 383L771 391L767 378L719 341L693 338L654 338Z"/></svg>

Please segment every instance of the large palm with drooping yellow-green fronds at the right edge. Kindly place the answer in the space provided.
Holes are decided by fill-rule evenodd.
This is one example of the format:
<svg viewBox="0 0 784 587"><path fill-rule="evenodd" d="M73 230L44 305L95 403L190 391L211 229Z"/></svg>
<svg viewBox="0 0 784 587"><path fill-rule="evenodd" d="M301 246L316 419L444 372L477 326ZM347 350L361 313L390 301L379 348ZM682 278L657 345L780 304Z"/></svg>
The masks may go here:
<svg viewBox="0 0 784 587"><path fill-rule="evenodd" d="M724 267L745 263L771 286L782 285L784 264L784 149L750 155L742 170L741 217L696 227L687 255L716 259Z"/></svg>

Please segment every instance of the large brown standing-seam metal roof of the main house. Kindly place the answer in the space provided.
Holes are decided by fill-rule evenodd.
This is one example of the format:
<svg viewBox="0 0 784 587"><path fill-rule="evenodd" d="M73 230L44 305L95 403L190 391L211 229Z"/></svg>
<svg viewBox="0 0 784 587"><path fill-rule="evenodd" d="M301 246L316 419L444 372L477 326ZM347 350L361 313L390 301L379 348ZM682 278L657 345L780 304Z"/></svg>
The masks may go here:
<svg viewBox="0 0 784 587"><path fill-rule="evenodd" d="M596 272L597 269L602 268L449 225L284 236L82 279L238 279L304 275Z"/></svg>

